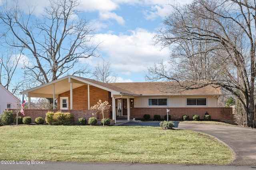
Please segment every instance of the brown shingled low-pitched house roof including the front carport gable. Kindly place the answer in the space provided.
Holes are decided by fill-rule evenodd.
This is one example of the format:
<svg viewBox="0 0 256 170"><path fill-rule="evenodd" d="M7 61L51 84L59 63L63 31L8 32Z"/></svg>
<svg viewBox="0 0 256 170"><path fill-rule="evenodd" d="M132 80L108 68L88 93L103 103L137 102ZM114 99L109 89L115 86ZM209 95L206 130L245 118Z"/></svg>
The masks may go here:
<svg viewBox="0 0 256 170"><path fill-rule="evenodd" d="M98 88L112 92L113 95L131 95L131 96L186 96L186 95L221 95L220 88L205 86L200 89L185 90L183 92L164 92L161 90L162 82L127 82L127 83L102 83L89 78L81 78L78 76L65 76L41 86L31 88L21 94L27 97L52 98L53 89L55 89L55 98L59 94L70 90L70 82L72 88L78 88L83 85L96 86ZM174 82L166 82L173 84ZM55 87L55 88L54 88Z"/></svg>

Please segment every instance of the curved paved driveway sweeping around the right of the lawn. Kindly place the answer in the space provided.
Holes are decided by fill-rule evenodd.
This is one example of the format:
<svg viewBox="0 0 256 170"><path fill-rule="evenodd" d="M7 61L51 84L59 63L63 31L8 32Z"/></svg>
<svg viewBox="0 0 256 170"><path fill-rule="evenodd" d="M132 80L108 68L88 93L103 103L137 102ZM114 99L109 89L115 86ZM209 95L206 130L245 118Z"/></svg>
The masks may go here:
<svg viewBox="0 0 256 170"><path fill-rule="evenodd" d="M198 131L215 137L236 153L230 165L256 165L256 129L229 125L174 122L174 129ZM159 122L128 122L123 126L159 126Z"/></svg>

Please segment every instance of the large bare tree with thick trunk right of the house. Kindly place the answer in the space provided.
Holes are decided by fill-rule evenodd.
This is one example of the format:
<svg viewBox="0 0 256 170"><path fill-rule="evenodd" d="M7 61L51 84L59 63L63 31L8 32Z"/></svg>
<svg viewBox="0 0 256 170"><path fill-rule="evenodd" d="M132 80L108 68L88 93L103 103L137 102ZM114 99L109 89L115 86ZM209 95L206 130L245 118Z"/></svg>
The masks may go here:
<svg viewBox="0 0 256 170"><path fill-rule="evenodd" d="M148 78L176 81L180 90L222 87L241 102L247 126L255 127L256 2L194 0L170 6L173 12L155 40L179 52L170 56L176 64L172 69L156 64Z"/></svg>

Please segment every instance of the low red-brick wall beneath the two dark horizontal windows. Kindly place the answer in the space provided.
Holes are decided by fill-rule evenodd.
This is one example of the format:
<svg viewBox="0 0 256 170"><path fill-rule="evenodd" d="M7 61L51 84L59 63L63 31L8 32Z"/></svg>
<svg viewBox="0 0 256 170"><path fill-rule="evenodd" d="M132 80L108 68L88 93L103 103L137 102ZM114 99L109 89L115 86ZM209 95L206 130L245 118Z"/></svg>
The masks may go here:
<svg viewBox="0 0 256 170"><path fill-rule="evenodd" d="M170 109L169 115L172 120L182 119L183 115L188 115L192 119L193 115L199 115L200 119L204 119L206 111L213 120L220 120L226 123L233 124L234 117L231 107L183 107L183 108L131 108L131 118L143 119L144 114L149 114L150 119L154 118L154 115L160 115L161 119L164 119L166 115L166 109Z"/></svg>

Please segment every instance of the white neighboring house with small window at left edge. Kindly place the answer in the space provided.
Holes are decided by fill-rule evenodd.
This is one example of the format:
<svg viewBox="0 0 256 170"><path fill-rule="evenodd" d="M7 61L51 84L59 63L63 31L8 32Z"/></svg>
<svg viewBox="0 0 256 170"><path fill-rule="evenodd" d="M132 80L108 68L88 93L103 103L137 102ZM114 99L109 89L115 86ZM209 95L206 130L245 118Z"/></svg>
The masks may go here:
<svg viewBox="0 0 256 170"><path fill-rule="evenodd" d="M20 100L0 84L0 113L5 109L15 109L17 103L20 103Z"/></svg>

